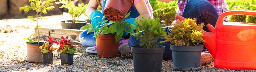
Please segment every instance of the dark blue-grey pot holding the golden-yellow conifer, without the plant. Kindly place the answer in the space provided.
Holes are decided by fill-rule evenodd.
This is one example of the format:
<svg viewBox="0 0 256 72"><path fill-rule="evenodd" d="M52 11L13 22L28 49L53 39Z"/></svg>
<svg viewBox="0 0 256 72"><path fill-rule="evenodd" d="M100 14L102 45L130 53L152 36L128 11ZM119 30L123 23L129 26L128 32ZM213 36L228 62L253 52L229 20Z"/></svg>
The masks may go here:
<svg viewBox="0 0 256 72"><path fill-rule="evenodd" d="M174 70L193 71L200 69L201 52L204 45L174 46L171 45L172 63Z"/></svg>

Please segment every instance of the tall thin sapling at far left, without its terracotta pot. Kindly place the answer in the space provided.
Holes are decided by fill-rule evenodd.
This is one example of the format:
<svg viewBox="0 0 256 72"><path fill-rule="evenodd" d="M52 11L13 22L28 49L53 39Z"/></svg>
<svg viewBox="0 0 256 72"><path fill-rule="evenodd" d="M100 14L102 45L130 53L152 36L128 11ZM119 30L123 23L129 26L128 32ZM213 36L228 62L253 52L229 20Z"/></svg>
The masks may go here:
<svg viewBox="0 0 256 72"><path fill-rule="evenodd" d="M38 19L40 19L40 20L42 20L42 19L45 20L46 19L41 14L42 13L46 14L47 11L49 11L49 10L54 8L54 6L52 6L53 5L53 3L52 3L53 1L55 1L55 0L45 0L43 2L41 0L29 0L30 6L27 5L27 6L19 8L20 11L23 10L25 12L29 12L30 10L35 10L36 11L36 13L34 15L27 17L27 18L31 19L32 21L36 21L35 28L37 28L37 32L38 32L37 34L33 33L29 38L26 38L26 39L29 40L29 44L34 43L33 42L34 39L32 38L32 36L37 35L37 37L39 39L39 29L38 29L38 27L40 27L40 26L38 25ZM38 41L37 44L39 45L39 40L35 40L35 41Z"/></svg>

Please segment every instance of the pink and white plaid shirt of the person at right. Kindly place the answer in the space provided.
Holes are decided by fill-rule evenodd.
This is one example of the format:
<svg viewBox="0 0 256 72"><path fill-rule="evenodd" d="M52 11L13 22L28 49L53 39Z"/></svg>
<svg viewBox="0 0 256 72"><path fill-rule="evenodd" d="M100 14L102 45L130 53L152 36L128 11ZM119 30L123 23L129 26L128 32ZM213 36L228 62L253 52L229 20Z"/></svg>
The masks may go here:
<svg viewBox="0 0 256 72"><path fill-rule="evenodd" d="M213 7L217 10L218 14L222 14L225 11L228 11L228 6L227 6L227 2L226 0L207 0L208 2L210 2ZM189 2L189 0L178 0L178 7L177 7L177 14L179 14L180 16L182 16L183 14L183 10L186 7L186 4ZM224 21L228 21L228 17L226 16L224 18Z"/></svg>

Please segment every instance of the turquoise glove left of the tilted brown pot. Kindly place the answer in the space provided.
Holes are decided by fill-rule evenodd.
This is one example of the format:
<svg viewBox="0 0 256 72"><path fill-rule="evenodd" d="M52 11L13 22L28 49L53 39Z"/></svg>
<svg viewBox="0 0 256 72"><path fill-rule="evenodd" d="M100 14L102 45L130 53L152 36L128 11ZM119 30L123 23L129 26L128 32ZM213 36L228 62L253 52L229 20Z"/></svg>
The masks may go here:
<svg viewBox="0 0 256 72"><path fill-rule="evenodd" d="M98 26L97 28L99 28L101 24L97 24L97 23L101 22L102 17L103 17L103 14L100 11L95 10L91 13L90 19L92 20L91 24L93 25L94 29L96 28L96 26Z"/></svg>

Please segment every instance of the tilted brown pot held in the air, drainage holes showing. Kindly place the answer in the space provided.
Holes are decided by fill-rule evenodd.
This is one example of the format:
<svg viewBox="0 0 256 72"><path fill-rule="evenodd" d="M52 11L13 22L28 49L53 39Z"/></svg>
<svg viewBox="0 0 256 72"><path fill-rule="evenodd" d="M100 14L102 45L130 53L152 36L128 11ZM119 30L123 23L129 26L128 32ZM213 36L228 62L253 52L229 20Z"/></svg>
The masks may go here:
<svg viewBox="0 0 256 72"><path fill-rule="evenodd" d="M103 10L104 16L110 21L120 22L124 19L133 2L134 0L107 0Z"/></svg>

